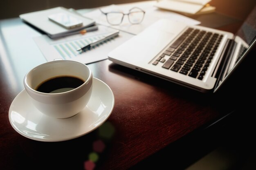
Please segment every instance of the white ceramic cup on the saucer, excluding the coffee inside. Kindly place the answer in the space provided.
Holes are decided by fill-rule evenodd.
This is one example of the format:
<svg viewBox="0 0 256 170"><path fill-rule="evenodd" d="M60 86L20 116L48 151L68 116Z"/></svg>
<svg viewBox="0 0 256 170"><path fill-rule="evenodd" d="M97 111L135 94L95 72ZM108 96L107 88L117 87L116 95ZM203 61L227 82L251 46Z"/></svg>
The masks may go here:
<svg viewBox="0 0 256 170"><path fill-rule="evenodd" d="M43 93L38 86L54 77L77 77L84 83L70 91ZM24 86L32 104L43 114L54 118L68 118L79 113L92 94L92 71L80 62L58 60L36 66L24 77Z"/></svg>

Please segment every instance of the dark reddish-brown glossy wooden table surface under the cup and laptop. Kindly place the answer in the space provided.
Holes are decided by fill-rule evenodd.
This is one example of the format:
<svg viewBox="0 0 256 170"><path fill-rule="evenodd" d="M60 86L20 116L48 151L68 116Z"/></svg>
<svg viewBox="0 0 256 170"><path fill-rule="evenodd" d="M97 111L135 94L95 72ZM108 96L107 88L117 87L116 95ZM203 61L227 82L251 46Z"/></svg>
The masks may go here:
<svg viewBox="0 0 256 170"><path fill-rule="evenodd" d="M216 1L213 1L213 5L222 10ZM222 25L218 29L234 32L253 6L247 5L245 8L247 9L244 9L244 13L238 15L241 18L236 16L236 12L229 12L236 18L235 22ZM84 169L85 163L88 163L88 169L95 166L96 169L104 170L139 169L146 165L161 167L164 164L161 160L168 160L162 156L162 152L168 152L171 159L169 168L176 167L179 158L195 159L192 155L178 156L181 151L185 153L185 148L193 148L187 140L192 142L198 134L205 134L204 130L210 125L232 114L239 115L241 110L246 112L250 108L244 94L248 91L244 88L242 90L239 83L224 86L217 94L202 94L103 60L88 64L94 77L106 82L115 95L115 107L109 119L102 125L103 130L98 128L88 135L62 142L48 143L27 139L11 127L8 112L14 97L24 88L22 79L25 73L45 62L36 60L36 56L42 54L32 40L32 37L40 33L18 18L1 20L0 26L2 170ZM18 46L20 38L23 38L24 43ZM254 54L255 51L252 51L249 56ZM103 144L102 152L99 148L95 152L95 141ZM189 147L180 146L181 144ZM89 159L97 161L93 165L88 162ZM180 164L180 167L184 168L185 165L186 163Z"/></svg>

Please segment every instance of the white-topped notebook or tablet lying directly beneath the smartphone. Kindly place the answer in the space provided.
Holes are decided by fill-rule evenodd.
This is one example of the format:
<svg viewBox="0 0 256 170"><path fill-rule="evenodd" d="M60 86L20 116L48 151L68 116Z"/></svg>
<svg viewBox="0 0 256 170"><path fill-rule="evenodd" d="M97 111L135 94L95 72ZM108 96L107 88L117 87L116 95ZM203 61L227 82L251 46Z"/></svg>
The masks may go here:
<svg viewBox="0 0 256 170"><path fill-rule="evenodd" d="M83 26L76 27L73 29L65 29L62 26L60 26L48 19L49 15L54 14L54 13L60 13L60 12L67 13L69 15L72 15L72 16L78 18L79 20L82 20ZM36 28L45 32L50 38L57 38L57 37L65 36L66 33L70 33L72 31L77 31L79 29L84 29L88 26L92 26L95 24L94 20L92 20L90 18L83 17L77 13L68 11L68 9L66 9L64 7L56 7L56 8L52 8L52 9L46 9L43 11L25 13L25 14L21 14L20 18L22 20L24 20L25 22L28 22L29 24L31 24L31 25L35 26Z"/></svg>

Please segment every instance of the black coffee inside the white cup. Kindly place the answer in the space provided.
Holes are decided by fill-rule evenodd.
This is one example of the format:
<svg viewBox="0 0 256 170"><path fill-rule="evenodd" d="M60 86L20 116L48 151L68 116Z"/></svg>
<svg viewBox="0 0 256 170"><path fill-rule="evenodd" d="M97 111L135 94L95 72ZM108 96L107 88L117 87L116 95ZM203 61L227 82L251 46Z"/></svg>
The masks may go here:
<svg viewBox="0 0 256 170"><path fill-rule="evenodd" d="M45 80L35 89L42 93L62 93L81 86L85 81L78 77L60 76Z"/></svg>

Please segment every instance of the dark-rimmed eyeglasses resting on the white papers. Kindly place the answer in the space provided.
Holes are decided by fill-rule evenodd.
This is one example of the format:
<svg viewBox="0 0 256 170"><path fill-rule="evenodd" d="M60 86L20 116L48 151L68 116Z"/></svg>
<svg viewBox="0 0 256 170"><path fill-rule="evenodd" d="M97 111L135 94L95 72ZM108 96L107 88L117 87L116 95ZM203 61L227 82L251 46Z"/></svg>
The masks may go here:
<svg viewBox="0 0 256 170"><path fill-rule="evenodd" d="M103 12L99 9L103 14L106 15L107 21L111 25L119 25L122 23L124 19L124 15L128 15L129 22L131 24L139 24L144 19L145 11L138 7L133 7L129 10L129 13L123 12Z"/></svg>

